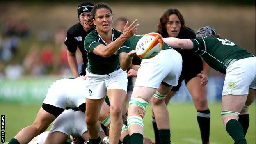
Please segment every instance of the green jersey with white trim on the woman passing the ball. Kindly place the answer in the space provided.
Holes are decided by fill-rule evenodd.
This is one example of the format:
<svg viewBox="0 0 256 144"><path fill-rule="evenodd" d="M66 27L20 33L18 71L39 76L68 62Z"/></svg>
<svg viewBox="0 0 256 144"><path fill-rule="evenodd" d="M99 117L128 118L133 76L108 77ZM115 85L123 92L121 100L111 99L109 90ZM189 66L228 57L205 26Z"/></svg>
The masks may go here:
<svg viewBox="0 0 256 144"><path fill-rule="evenodd" d="M120 37L122 33L112 28L112 42L115 41L118 37ZM91 31L85 37L85 51L87 52L87 69L90 73L94 74L108 74L116 71L120 68L119 62L119 53L130 52L129 40L125 41L123 45L117 50L113 55L110 57L101 57L93 53L94 48L96 48L100 44L104 44L105 46L107 43L101 38L98 34L97 30Z"/></svg>

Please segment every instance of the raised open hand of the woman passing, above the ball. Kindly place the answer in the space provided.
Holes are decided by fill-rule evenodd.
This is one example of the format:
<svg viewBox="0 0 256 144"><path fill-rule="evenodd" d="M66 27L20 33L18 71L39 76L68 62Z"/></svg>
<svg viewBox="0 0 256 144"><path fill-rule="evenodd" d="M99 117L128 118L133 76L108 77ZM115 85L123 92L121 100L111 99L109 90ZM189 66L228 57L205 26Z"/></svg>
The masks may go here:
<svg viewBox="0 0 256 144"><path fill-rule="evenodd" d="M126 25L123 27L123 37L126 37L126 39L132 37L137 32L137 27L139 24L135 25L137 22L137 19L133 21L133 23L129 26L129 22L126 22Z"/></svg>

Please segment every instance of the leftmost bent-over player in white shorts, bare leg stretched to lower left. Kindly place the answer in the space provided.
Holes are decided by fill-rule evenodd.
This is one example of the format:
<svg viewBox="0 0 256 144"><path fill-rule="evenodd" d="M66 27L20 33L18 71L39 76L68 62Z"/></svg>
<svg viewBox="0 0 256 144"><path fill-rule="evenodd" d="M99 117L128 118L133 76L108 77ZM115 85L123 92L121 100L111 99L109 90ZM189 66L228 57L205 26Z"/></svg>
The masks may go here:
<svg viewBox="0 0 256 144"><path fill-rule="evenodd" d="M61 114L66 107L78 107L85 111L85 77L61 79L48 89L46 98L37 113L34 123L23 128L10 140L9 144L27 144L34 137L43 133L50 123Z"/></svg>

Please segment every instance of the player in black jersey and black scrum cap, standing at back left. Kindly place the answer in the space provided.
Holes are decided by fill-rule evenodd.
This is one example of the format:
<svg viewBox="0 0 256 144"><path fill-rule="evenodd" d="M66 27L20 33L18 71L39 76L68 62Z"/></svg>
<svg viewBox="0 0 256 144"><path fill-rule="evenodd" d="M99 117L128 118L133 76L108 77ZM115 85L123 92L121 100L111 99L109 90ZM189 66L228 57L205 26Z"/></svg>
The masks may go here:
<svg viewBox="0 0 256 144"><path fill-rule="evenodd" d="M84 50L84 40L87 34L89 34L92 30L89 25L87 25L87 20L89 16L91 16L91 9L93 8L93 6L94 4L92 4L91 2L82 2L78 5L77 11L79 23L76 23L69 28L66 40L64 42L68 49L69 67L73 73L74 78L86 74L85 68L88 59ZM83 59L83 65L80 73L78 72L78 64L75 55L77 47L81 51Z"/></svg>

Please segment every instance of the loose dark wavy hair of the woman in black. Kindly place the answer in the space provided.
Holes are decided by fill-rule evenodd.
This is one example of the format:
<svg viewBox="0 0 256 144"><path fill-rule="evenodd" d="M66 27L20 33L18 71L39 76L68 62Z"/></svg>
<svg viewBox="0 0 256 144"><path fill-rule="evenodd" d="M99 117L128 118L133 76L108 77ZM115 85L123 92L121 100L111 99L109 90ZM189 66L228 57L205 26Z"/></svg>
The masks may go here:
<svg viewBox="0 0 256 144"><path fill-rule="evenodd" d="M178 11L178 9L168 9L167 11L165 11L165 13L161 16L160 20L159 20L159 23L158 23L158 31L160 33L167 33L166 31L166 23L169 21L169 16L171 14L176 14L178 16L178 18L180 19L181 21L181 30L185 30L186 29L186 26L185 26L185 21L184 21L184 18L181 14L180 11Z"/></svg>

